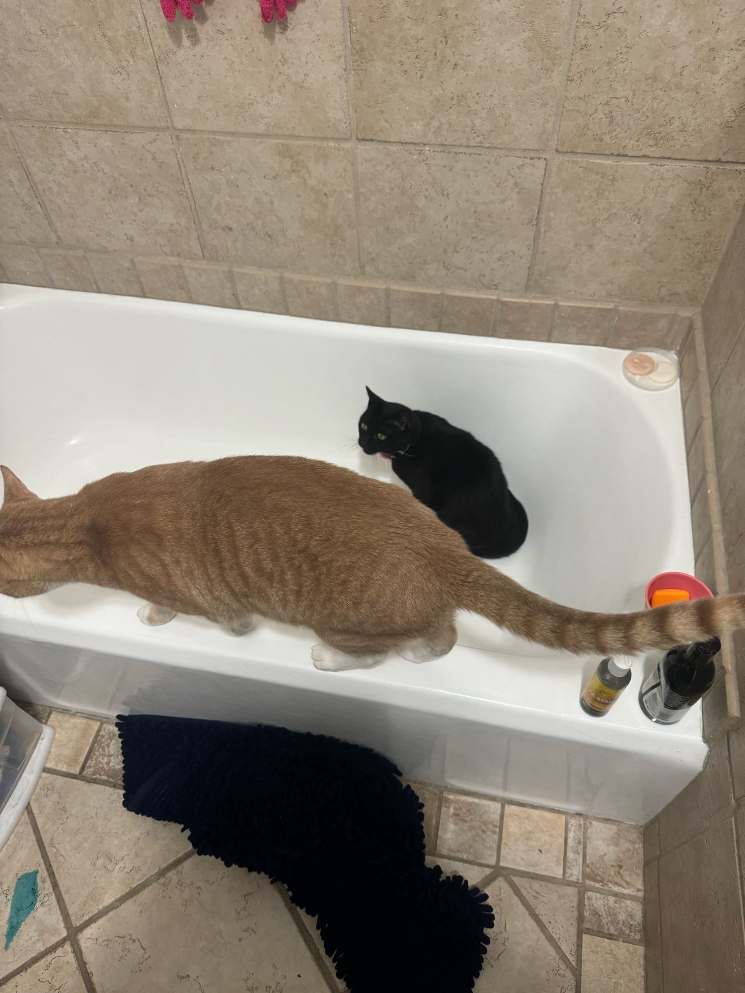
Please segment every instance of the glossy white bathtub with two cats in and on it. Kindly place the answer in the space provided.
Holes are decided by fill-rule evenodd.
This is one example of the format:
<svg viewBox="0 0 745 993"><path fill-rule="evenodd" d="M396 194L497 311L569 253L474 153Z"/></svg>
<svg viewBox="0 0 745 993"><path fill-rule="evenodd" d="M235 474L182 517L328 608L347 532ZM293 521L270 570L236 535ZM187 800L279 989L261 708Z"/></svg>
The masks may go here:
<svg viewBox="0 0 745 993"><path fill-rule="evenodd" d="M623 353L366 328L180 303L0 287L0 461L42 497L117 470L235 454L325 459L393 481L355 444L365 386L435 410L498 453L530 520L500 568L565 604L627 611L693 565L677 387L630 385ZM464 615L446 657L314 668L312 633L146 628L124 593L0 597L0 685L93 715L263 721L370 745L414 780L644 823L701 769L700 705L641 713L655 658L602 719L597 658Z"/></svg>

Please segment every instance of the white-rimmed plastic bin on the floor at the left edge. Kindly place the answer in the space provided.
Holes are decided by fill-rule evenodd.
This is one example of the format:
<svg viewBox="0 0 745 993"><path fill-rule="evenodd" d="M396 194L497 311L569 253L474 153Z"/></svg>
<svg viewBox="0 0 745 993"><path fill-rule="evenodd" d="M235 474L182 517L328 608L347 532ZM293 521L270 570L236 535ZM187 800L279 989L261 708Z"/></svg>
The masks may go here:
<svg viewBox="0 0 745 993"><path fill-rule="evenodd" d="M31 799L54 739L53 728L16 706L0 686L0 851Z"/></svg>

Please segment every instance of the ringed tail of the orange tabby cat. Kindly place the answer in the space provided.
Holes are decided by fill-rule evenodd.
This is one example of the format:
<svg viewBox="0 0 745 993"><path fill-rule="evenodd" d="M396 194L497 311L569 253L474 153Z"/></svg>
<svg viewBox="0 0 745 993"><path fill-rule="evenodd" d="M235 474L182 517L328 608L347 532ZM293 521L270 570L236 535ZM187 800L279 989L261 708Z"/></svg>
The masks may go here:
<svg viewBox="0 0 745 993"><path fill-rule="evenodd" d="M631 655L722 638L745 628L745 595L669 604L635 614L594 614L539 597L474 559L462 573L458 606L518 638L575 654Z"/></svg>

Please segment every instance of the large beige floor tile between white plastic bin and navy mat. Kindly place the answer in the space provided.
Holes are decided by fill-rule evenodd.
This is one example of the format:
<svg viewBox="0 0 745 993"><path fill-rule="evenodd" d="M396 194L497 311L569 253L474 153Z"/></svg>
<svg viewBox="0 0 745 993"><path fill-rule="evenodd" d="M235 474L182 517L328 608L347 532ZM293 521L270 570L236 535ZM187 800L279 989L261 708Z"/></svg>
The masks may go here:
<svg viewBox="0 0 745 993"><path fill-rule="evenodd" d="M129 813L109 786L47 774L32 808L74 923L190 848L177 824Z"/></svg>

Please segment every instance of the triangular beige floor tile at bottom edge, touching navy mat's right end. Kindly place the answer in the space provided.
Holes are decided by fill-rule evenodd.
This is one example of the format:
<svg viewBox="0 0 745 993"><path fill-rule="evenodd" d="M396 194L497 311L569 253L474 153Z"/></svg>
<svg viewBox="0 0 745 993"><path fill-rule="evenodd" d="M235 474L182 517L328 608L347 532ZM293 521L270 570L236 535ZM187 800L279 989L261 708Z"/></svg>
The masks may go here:
<svg viewBox="0 0 745 993"><path fill-rule="evenodd" d="M541 933L510 884L497 879L487 893L496 926L476 993L574 993L569 966ZM583 990L584 993L584 990Z"/></svg>

